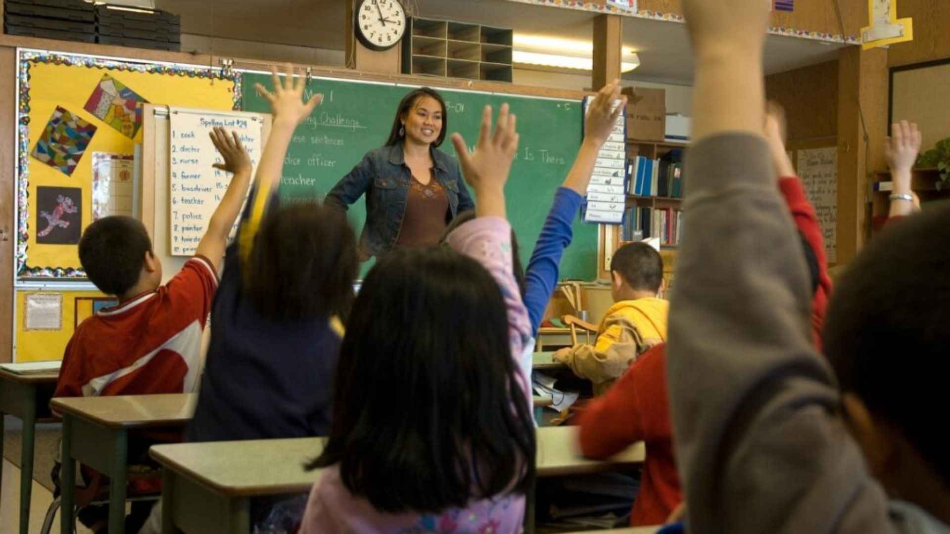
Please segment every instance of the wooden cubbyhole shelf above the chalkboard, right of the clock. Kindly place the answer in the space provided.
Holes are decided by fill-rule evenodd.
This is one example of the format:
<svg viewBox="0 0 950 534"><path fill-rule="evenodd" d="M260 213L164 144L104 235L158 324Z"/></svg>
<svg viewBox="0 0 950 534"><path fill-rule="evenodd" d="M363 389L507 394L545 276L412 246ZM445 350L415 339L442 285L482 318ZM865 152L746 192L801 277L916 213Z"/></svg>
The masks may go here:
<svg viewBox="0 0 950 534"><path fill-rule="evenodd" d="M513 39L511 29L411 17L403 73L510 83Z"/></svg>

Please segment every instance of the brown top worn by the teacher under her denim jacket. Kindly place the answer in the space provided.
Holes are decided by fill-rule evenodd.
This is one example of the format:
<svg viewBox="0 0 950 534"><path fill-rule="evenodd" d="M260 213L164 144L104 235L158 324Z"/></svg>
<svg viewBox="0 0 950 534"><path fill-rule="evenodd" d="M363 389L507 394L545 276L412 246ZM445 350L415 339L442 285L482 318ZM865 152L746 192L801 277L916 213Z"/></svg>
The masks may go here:
<svg viewBox="0 0 950 534"><path fill-rule="evenodd" d="M448 195L446 188L435 177L423 185L416 177L409 179L406 212L399 229L396 244L404 247L424 247L439 243L446 230Z"/></svg>

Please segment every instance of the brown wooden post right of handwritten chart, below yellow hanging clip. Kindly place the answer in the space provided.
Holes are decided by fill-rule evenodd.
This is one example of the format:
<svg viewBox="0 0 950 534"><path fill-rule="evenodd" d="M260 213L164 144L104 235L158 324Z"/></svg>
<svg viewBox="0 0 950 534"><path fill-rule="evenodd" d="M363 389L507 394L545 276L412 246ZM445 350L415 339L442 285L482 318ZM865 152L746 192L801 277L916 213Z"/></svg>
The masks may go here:
<svg viewBox="0 0 950 534"><path fill-rule="evenodd" d="M874 171L886 168L887 52L841 50L838 62L838 257L854 257L868 235ZM864 117L862 117L864 114ZM862 121L864 119L864 122ZM866 135L866 139L865 139Z"/></svg>

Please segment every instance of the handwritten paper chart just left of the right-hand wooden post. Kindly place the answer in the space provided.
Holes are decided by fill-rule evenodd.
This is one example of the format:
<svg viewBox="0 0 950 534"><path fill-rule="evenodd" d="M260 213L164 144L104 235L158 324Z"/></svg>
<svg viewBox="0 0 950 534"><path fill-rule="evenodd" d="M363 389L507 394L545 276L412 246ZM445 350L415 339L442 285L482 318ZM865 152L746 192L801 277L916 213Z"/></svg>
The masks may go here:
<svg viewBox="0 0 950 534"><path fill-rule="evenodd" d="M838 260L838 149L798 151L798 175L822 227L829 263Z"/></svg>

